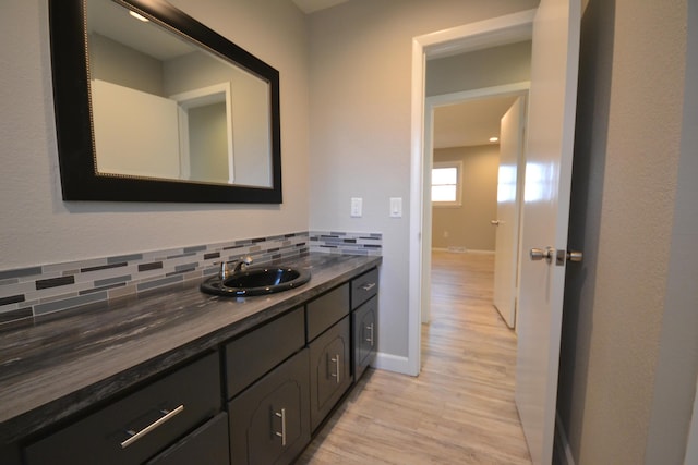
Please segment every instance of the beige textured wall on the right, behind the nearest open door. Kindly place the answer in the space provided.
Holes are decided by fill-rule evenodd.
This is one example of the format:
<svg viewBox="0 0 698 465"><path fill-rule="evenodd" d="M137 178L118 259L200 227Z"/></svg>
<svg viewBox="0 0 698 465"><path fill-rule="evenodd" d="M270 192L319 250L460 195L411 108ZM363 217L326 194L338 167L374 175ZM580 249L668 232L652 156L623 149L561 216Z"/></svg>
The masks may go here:
<svg viewBox="0 0 698 465"><path fill-rule="evenodd" d="M686 8L591 0L582 21L569 246L585 260L567 276L557 404L581 465L681 464L686 449L698 364Z"/></svg>

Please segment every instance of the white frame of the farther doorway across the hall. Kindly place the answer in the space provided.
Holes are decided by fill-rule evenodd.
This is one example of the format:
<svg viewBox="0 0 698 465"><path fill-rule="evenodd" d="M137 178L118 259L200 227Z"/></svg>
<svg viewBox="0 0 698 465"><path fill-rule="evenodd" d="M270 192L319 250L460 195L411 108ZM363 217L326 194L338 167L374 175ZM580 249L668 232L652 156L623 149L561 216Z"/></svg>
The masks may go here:
<svg viewBox="0 0 698 465"><path fill-rule="evenodd" d="M433 168L434 152L434 110L440 107L448 107L470 100L482 100L490 97L520 96L528 98L531 87L530 81L504 84L500 86L483 87L471 90L461 90L450 94L438 94L424 99L424 154L423 154L423 220L422 243L422 291L421 291L421 322L428 323L431 319L431 249L432 249L432 208L431 208L431 170Z"/></svg>

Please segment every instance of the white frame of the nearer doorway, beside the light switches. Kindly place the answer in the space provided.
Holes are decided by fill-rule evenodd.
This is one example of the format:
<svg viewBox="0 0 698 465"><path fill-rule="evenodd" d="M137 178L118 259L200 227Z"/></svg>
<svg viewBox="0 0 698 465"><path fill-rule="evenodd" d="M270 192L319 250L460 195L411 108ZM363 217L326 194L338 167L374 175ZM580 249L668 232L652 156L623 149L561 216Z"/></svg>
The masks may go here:
<svg viewBox="0 0 698 465"><path fill-rule="evenodd" d="M421 369L422 297L429 295L430 270L424 266L431 254L431 233L428 232L424 200L424 75L426 57L461 53L498 45L528 40L532 37L535 10L526 10L505 16L479 21L445 30L418 36L412 39L411 138L410 138L410 237L409 237L409 297L408 297L408 359L409 375ZM431 159L430 159L431 162ZM430 221L431 222L431 221ZM424 240L424 234L426 238Z"/></svg>

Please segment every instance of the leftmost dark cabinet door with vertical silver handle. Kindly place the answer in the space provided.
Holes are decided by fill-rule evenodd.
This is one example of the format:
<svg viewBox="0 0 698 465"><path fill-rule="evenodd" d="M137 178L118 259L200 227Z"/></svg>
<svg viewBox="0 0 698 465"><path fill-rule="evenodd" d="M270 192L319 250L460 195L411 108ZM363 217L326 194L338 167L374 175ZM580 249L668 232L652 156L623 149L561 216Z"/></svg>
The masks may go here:
<svg viewBox="0 0 698 465"><path fill-rule="evenodd" d="M308 348L228 404L233 464L287 464L310 442Z"/></svg>

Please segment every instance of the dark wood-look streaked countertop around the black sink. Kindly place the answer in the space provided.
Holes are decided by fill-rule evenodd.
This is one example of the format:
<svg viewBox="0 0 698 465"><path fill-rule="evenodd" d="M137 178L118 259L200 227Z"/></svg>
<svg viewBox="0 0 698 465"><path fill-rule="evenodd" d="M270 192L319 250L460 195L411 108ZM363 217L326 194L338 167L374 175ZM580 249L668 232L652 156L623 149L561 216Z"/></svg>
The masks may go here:
<svg viewBox="0 0 698 465"><path fill-rule="evenodd" d="M1 332L0 445L214 350L381 257L311 254L282 264L310 268L310 282L246 298L204 294L190 282Z"/></svg>

